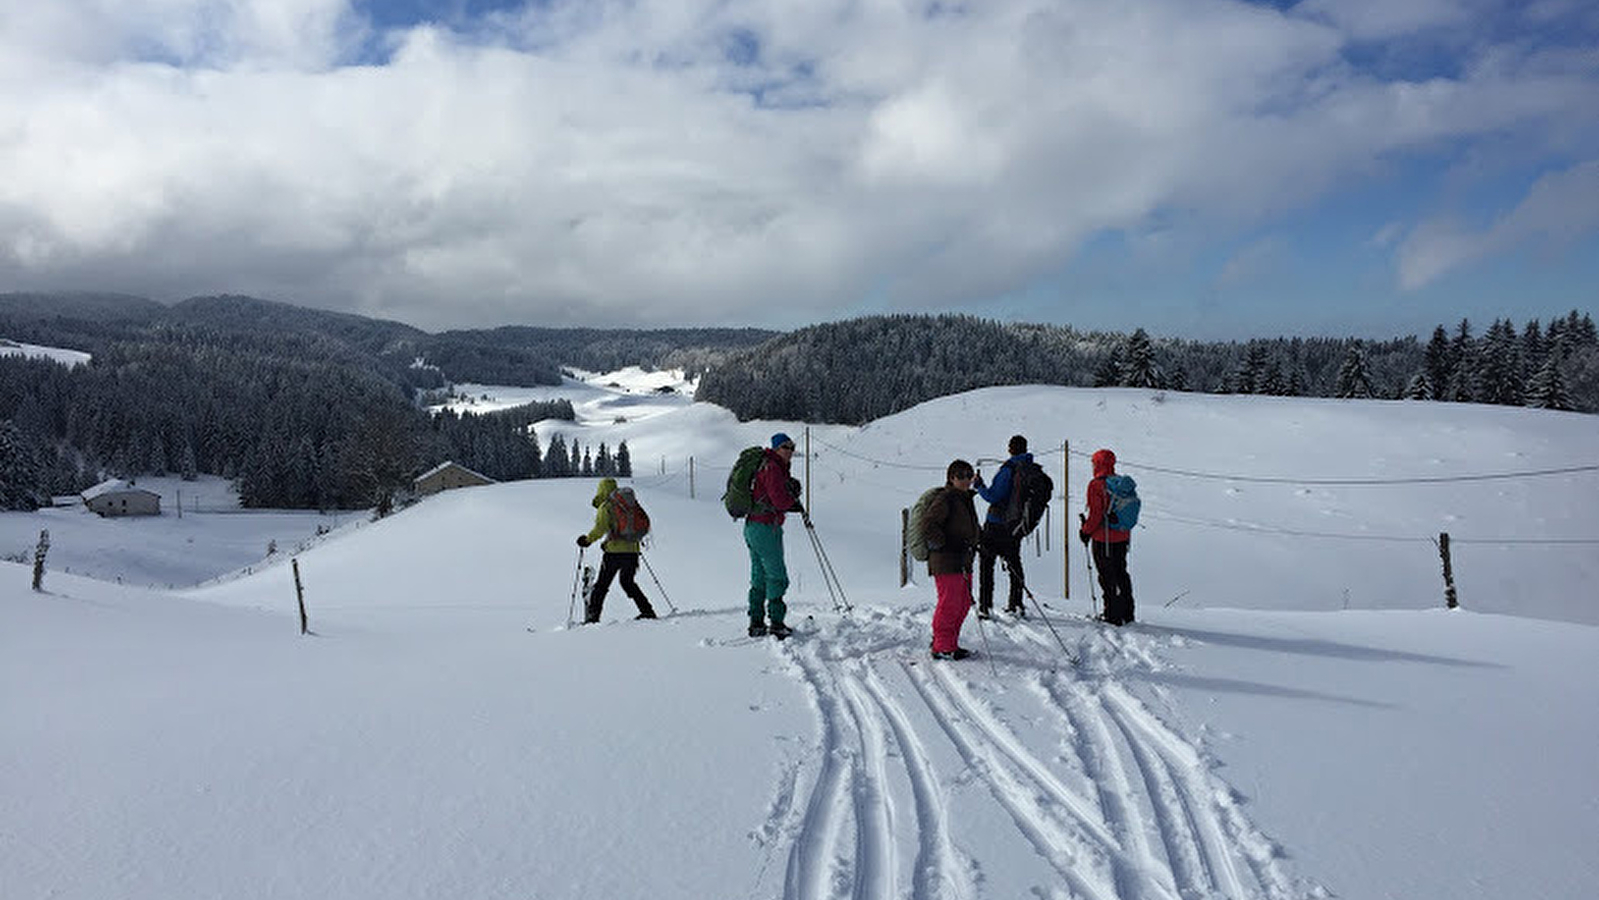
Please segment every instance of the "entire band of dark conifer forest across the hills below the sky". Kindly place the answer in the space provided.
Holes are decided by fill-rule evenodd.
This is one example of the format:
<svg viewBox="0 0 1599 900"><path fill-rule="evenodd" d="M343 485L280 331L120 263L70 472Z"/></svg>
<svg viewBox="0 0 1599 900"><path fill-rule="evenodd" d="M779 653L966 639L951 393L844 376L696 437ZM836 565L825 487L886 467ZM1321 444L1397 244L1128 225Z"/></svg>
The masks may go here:
<svg viewBox="0 0 1599 900"><path fill-rule="evenodd" d="M1439 325L1428 340L1196 342L868 317L758 329L499 328L429 334L249 297L173 307L106 294L0 294L0 339L91 353L82 366L0 355L0 508L106 476L221 475L249 507L385 512L454 460L496 480L628 475L627 444L540 448L568 401L425 409L457 382L560 384L561 366L700 376L739 419L865 424L977 387L1057 384L1599 411L1599 334L1572 312L1516 328Z"/></svg>

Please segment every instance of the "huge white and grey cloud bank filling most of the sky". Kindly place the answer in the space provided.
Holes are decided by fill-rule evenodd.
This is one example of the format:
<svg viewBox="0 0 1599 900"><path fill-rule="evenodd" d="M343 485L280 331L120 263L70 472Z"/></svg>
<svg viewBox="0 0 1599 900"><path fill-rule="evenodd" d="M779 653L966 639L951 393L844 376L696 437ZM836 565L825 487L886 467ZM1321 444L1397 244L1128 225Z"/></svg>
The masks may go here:
<svg viewBox="0 0 1599 900"><path fill-rule="evenodd" d="M1591 69L1385 83L1340 54L1370 10L1322 6L556 0L384 66L339 64L366 35L334 0L0 10L0 283L806 318L1015 291L1095 232L1254 224L1398 153L1596 141Z"/></svg>

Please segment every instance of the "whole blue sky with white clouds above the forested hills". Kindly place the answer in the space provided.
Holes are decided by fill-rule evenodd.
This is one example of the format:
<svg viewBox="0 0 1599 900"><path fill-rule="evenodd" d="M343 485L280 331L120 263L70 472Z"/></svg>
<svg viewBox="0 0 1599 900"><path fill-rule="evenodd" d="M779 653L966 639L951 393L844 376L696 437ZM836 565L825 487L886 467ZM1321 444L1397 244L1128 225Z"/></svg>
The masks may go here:
<svg viewBox="0 0 1599 900"><path fill-rule="evenodd" d="M0 8L0 291L421 328L1591 310L1588 0Z"/></svg>

